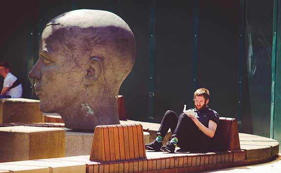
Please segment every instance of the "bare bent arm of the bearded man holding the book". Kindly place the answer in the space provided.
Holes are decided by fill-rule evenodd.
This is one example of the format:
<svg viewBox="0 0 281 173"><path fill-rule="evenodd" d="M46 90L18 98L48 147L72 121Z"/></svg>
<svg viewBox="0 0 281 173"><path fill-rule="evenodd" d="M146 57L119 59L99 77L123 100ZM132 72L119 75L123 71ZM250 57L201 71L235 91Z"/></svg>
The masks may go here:
<svg viewBox="0 0 281 173"><path fill-rule="evenodd" d="M195 116L193 115L188 115L188 116L193 120L193 122L199 128L200 131L202 131L205 135L211 138L214 137L216 133L216 126L217 126L215 121L209 120L208 127L205 127Z"/></svg>

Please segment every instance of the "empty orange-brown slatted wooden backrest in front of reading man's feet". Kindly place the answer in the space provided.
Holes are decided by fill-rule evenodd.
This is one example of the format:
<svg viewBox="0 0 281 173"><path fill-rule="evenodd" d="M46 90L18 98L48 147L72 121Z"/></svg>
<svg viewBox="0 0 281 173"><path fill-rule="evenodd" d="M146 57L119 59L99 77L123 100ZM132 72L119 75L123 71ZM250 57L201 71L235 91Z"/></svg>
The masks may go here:
<svg viewBox="0 0 281 173"><path fill-rule="evenodd" d="M146 158L141 124L102 125L94 131L91 161L115 162Z"/></svg>

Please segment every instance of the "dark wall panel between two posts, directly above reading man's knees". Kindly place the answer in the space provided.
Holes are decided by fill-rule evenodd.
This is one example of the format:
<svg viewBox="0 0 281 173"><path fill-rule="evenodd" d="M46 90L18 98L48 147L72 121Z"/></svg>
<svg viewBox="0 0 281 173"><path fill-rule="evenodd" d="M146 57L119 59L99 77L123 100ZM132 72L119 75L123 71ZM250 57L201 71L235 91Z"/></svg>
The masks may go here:
<svg viewBox="0 0 281 173"><path fill-rule="evenodd" d="M154 116L161 122L166 110L181 114L184 104L192 105L193 4L189 0L157 2Z"/></svg>

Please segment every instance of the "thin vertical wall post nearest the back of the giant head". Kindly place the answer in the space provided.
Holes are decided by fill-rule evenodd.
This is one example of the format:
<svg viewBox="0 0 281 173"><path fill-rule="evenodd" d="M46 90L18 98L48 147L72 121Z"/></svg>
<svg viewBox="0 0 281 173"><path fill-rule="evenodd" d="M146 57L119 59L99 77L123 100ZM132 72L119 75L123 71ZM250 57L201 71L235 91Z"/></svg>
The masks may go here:
<svg viewBox="0 0 281 173"><path fill-rule="evenodd" d="M148 121L154 121L154 56L155 56L155 8L156 0L150 2L149 14L149 92Z"/></svg>

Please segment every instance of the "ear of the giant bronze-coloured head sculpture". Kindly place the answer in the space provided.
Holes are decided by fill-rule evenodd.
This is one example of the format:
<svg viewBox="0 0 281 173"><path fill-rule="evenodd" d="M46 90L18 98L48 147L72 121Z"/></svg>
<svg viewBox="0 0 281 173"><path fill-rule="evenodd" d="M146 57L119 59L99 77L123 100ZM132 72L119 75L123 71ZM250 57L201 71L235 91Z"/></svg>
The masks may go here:
<svg viewBox="0 0 281 173"><path fill-rule="evenodd" d="M89 68L86 69L86 76L83 77L82 80L85 85L92 85L95 81L97 81L103 71L103 65L100 58L91 58L89 65Z"/></svg>

